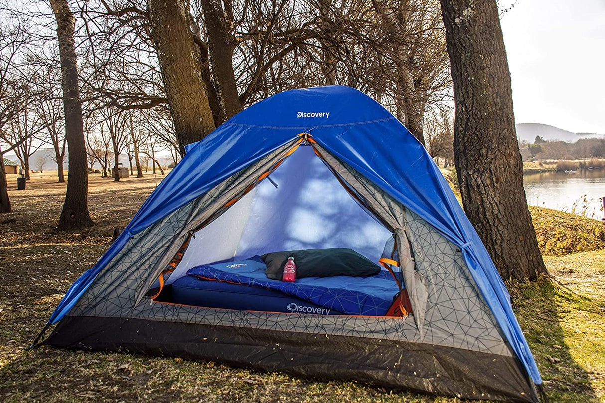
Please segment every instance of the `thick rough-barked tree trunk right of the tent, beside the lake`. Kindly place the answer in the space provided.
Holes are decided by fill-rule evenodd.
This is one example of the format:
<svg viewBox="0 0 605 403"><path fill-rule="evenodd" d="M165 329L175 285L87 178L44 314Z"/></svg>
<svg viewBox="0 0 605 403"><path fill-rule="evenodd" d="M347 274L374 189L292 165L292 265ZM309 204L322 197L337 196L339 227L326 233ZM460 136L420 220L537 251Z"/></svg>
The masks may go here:
<svg viewBox="0 0 605 403"><path fill-rule="evenodd" d="M454 160L466 214L502 278L546 273L523 189L497 4L440 0L456 99Z"/></svg>

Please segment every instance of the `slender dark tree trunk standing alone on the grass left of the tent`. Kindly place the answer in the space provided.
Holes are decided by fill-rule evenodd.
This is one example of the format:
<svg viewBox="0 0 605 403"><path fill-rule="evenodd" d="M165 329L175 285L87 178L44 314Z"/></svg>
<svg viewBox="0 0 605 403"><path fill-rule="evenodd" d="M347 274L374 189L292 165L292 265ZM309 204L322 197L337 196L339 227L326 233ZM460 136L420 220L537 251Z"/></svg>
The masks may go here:
<svg viewBox="0 0 605 403"><path fill-rule="evenodd" d="M77 59L74 45L76 19L67 0L50 0L57 20L57 37L63 82L65 137L69 150L69 175L65 203L59 218L59 229L83 228L93 225L88 214L88 171L86 145L82 125L82 102L77 82Z"/></svg>

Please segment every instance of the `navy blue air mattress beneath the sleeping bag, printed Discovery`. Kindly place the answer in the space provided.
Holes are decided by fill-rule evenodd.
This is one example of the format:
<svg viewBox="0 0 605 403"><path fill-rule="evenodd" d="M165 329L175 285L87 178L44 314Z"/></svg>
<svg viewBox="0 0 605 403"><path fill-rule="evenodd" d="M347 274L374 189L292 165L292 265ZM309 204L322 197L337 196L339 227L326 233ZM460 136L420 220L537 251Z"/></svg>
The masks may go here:
<svg viewBox="0 0 605 403"><path fill-rule="evenodd" d="M192 276L181 277L172 283L171 302L221 309L342 315L342 312L290 297L283 292L224 281L205 281Z"/></svg>

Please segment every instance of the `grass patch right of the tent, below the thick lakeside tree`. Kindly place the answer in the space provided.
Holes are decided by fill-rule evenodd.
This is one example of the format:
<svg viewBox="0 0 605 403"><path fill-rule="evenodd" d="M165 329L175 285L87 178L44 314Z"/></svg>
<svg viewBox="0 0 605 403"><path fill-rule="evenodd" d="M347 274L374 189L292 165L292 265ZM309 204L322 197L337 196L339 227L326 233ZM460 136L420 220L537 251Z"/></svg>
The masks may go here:
<svg viewBox="0 0 605 403"><path fill-rule="evenodd" d="M553 402L605 399L605 254L545 257L552 276L508 283ZM552 281L551 281L552 280Z"/></svg>

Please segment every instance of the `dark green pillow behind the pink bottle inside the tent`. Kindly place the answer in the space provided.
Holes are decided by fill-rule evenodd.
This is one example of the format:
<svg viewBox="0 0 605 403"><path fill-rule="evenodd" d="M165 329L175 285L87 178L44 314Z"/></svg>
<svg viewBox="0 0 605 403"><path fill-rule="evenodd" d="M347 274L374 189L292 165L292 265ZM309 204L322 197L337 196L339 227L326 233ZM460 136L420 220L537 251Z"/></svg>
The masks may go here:
<svg viewBox="0 0 605 403"><path fill-rule="evenodd" d="M270 252L261 255L267 265L265 274L272 280L281 280L288 257L294 258L296 278L305 277L369 277L380 272L380 266L348 247L328 249L299 249L298 251Z"/></svg>

